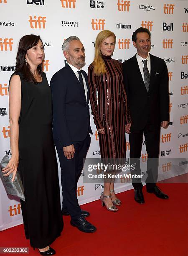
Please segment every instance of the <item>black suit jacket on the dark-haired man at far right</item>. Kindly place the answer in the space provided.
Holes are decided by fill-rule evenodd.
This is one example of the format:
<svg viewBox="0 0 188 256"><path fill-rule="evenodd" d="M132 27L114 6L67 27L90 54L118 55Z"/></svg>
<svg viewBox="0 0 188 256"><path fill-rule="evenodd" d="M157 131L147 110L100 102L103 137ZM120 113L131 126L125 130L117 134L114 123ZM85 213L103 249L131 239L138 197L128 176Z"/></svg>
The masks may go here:
<svg viewBox="0 0 188 256"><path fill-rule="evenodd" d="M163 59L150 54L150 88L145 88L136 55L123 63L124 86L131 114L131 130L146 124L159 127L169 120L168 69Z"/></svg>

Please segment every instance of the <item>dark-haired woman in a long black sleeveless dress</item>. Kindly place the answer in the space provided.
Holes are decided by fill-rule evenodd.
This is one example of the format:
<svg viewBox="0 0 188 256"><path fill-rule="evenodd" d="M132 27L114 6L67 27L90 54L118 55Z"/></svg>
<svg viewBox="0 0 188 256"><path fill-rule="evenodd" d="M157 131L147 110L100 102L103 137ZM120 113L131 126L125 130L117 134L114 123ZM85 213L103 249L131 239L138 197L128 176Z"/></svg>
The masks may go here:
<svg viewBox="0 0 188 256"><path fill-rule="evenodd" d="M20 200L25 236L41 255L56 252L49 247L60 236L63 218L58 166L51 131L51 90L42 71L44 46L39 36L20 39L16 72L10 77L10 147L12 157L6 176L17 172L23 182L25 202Z"/></svg>

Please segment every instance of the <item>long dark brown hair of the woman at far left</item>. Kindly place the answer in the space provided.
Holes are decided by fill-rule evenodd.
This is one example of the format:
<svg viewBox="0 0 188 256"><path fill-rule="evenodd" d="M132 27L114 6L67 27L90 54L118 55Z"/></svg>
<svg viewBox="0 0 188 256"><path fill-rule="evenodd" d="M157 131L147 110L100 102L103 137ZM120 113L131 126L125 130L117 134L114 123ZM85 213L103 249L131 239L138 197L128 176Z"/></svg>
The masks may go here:
<svg viewBox="0 0 188 256"><path fill-rule="evenodd" d="M23 79L25 81L29 81L32 83L37 84L36 78L33 76L32 72L30 71L30 65L25 61L25 54L27 51L36 46L38 41L41 40L40 36L36 35L26 35L20 39L18 45L18 52L16 55L16 72L20 72L23 74ZM42 42L42 40L41 40ZM43 42L42 42L43 44ZM42 75L42 63L37 67L38 74Z"/></svg>

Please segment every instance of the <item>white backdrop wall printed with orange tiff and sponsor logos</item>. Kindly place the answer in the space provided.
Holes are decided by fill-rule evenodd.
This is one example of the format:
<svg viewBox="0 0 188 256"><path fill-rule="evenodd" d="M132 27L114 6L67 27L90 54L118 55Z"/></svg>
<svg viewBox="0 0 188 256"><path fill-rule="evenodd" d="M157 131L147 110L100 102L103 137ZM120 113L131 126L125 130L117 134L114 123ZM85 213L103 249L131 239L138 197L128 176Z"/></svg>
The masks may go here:
<svg viewBox="0 0 188 256"><path fill-rule="evenodd" d="M170 122L167 129L161 128L158 180L188 172L188 1L178 0L0 0L0 159L5 154L11 156L8 83L15 71L18 41L23 35L41 36L45 46L43 69L50 82L52 75L66 63L61 45L69 36L78 36L83 43L86 49L83 69L87 72L100 31L109 29L115 33L113 58L124 62L136 53L131 38L133 31L141 26L151 31L150 52L165 60L169 75ZM87 157L100 158L92 116L91 128L93 135ZM129 151L126 134L127 161ZM143 138L142 174L146 173L146 161ZM80 204L99 199L103 191L102 180L84 183L84 175L85 169L77 188ZM130 179L118 179L115 188L117 192L132 189ZM0 181L0 230L22 222L20 202L6 195Z"/></svg>

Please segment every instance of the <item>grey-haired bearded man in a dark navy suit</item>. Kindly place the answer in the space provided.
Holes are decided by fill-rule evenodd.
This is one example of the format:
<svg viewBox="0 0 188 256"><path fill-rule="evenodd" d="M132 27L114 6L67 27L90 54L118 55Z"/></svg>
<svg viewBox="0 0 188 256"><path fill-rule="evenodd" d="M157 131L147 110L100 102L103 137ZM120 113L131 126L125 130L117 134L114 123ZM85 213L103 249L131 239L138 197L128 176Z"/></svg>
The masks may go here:
<svg viewBox="0 0 188 256"><path fill-rule="evenodd" d="M83 161L91 142L89 117L89 85L85 65L85 49L76 36L62 45L67 64L53 75L50 86L53 100L53 138L61 166L63 215L71 215L71 225L87 233L96 228L84 217L76 197Z"/></svg>

